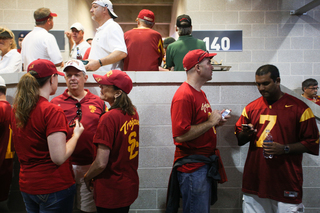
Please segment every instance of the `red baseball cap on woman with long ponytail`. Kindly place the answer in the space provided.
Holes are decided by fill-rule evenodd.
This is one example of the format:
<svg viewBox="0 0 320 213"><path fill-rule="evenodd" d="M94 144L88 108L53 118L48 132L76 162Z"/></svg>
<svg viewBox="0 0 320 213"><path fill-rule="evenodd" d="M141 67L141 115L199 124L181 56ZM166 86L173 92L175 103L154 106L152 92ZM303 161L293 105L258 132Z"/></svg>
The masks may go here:
<svg viewBox="0 0 320 213"><path fill-rule="evenodd" d="M38 73L34 75L35 78L44 78L53 74L64 76L64 73L59 72L54 63L47 59L37 59L31 62L28 66L28 72L30 71Z"/></svg>

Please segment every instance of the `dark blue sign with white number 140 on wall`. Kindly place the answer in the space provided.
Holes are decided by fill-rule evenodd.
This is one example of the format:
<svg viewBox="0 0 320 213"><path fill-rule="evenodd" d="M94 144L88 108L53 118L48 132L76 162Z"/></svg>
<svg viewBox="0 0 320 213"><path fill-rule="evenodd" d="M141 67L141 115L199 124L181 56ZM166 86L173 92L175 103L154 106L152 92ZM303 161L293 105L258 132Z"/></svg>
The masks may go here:
<svg viewBox="0 0 320 213"><path fill-rule="evenodd" d="M242 51L242 30L195 30L192 36L203 40L210 52Z"/></svg>

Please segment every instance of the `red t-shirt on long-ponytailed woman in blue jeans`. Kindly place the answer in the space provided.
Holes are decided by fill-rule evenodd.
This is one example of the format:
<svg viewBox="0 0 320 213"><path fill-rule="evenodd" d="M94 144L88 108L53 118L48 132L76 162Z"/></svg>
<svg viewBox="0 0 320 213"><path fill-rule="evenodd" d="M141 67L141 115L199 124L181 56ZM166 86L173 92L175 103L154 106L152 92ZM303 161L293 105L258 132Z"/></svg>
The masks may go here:
<svg viewBox="0 0 320 213"><path fill-rule="evenodd" d="M72 186L75 181L69 160L60 166L53 163L47 141L52 133L68 132L62 109L40 96L25 127L16 127L14 114L11 120L13 142L20 162L20 191L49 194Z"/></svg>

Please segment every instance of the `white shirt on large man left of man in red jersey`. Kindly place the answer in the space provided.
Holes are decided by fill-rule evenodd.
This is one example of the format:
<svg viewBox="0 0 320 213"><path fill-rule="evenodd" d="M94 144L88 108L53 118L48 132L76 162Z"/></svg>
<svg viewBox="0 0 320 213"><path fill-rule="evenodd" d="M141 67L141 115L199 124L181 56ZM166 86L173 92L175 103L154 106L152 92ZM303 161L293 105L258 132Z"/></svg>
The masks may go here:
<svg viewBox="0 0 320 213"><path fill-rule="evenodd" d="M123 31L120 25L110 18L97 29L91 44L89 59L101 59L110 55L113 51L119 50L127 53L127 46L124 41ZM100 67L97 71L122 70L123 61L108 64Z"/></svg>

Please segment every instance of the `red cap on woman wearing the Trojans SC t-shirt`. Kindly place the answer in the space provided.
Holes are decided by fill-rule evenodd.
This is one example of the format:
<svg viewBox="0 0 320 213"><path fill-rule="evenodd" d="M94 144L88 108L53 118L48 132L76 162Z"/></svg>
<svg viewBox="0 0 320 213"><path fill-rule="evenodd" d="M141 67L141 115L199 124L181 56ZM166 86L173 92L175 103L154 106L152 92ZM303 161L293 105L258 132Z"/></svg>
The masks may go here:
<svg viewBox="0 0 320 213"><path fill-rule="evenodd" d="M132 89L132 80L127 73L121 70L111 70L105 75L92 74L98 84L114 85L129 94Z"/></svg>

